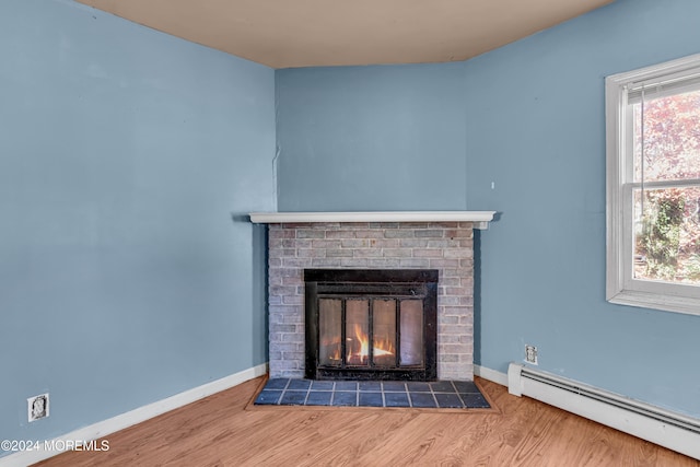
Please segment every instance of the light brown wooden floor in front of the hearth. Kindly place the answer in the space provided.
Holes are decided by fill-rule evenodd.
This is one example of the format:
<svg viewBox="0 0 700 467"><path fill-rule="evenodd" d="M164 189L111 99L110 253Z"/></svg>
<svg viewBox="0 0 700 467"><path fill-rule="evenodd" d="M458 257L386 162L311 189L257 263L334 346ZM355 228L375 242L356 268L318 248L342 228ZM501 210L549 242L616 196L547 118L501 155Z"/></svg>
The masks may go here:
<svg viewBox="0 0 700 467"><path fill-rule="evenodd" d="M261 407L257 378L42 466L700 466L476 380L497 410Z"/></svg>

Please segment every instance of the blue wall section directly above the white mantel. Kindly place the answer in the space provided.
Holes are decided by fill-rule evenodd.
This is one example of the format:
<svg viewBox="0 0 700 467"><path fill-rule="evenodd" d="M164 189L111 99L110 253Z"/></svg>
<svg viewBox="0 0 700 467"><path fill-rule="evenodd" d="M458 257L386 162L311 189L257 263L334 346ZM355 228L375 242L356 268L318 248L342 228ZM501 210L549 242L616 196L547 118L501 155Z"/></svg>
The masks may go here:
<svg viewBox="0 0 700 467"><path fill-rule="evenodd" d="M277 70L279 209L465 209L463 73Z"/></svg>

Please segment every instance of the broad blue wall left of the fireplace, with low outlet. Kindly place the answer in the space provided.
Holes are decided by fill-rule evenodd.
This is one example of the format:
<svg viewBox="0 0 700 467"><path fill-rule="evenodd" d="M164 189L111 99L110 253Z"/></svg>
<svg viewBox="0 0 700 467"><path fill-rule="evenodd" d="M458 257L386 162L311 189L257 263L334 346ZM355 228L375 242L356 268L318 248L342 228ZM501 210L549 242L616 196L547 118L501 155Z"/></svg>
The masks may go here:
<svg viewBox="0 0 700 467"><path fill-rule="evenodd" d="M0 440L264 363L273 70L67 0L2 0L0 60Z"/></svg>

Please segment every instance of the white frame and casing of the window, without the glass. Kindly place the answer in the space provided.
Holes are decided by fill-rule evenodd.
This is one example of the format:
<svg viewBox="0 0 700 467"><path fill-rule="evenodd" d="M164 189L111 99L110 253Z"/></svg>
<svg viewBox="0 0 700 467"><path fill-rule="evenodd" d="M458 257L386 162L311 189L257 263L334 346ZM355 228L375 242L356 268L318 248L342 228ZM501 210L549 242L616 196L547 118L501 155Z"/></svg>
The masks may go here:
<svg viewBox="0 0 700 467"><path fill-rule="evenodd" d="M633 278L633 161L628 93L644 84L697 82L700 54L607 77L607 279L611 303L700 315L700 287ZM661 84L660 84L661 83ZM673 84L672 84L673 85ZM693 84L695 85L695 84Z"/></svg>

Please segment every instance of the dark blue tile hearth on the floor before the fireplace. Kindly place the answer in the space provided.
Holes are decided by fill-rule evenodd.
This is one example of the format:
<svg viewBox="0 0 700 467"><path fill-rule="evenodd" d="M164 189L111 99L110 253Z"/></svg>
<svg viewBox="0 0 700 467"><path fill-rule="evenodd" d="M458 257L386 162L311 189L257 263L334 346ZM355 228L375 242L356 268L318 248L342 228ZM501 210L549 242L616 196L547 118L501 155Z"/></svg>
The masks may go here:
<svg viewBox="0 0 700 467"><path fill-rule="evenodd" d="M311 381L268 380L255 399L258 406L411 407L488 409L491 406L470 381Z"/></svg>

